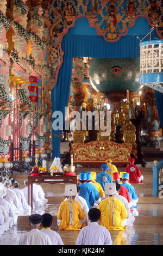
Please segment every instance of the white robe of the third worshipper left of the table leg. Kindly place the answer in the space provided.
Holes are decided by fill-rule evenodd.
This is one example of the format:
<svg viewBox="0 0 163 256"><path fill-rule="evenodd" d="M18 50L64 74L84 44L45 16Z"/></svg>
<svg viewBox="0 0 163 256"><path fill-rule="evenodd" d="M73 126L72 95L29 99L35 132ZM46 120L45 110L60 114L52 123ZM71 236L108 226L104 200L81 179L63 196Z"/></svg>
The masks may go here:
<svg viewBox="0 0 163 256"><path fill-rule="evenodd" d="M11 228L17 222L17 214L14 213L10 203L3 198L0 198L0 205L2 205L7 213L7 219L9 221L9 228Z"/></svg>

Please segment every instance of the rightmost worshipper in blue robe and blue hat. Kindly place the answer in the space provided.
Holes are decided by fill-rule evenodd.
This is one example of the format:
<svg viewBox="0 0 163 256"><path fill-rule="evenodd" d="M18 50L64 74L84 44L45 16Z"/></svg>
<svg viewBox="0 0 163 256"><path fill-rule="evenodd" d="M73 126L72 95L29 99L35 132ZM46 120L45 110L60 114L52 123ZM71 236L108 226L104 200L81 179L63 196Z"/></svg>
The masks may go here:
<svg viewBox="0 0 163 256"><path fill-rule="evenodd" d="M128 192L129 192L129 195L130 195L130 198L131 198L131 203L132 203L131 209L137 208L137 202L138 202L139 199L137 197L135 188L132 185L129 185L128 181L129 181L129 174L128 173L123 173L123 176L122 176L122 182L123 183L121 184L121 186L126 187Z"/></svg>

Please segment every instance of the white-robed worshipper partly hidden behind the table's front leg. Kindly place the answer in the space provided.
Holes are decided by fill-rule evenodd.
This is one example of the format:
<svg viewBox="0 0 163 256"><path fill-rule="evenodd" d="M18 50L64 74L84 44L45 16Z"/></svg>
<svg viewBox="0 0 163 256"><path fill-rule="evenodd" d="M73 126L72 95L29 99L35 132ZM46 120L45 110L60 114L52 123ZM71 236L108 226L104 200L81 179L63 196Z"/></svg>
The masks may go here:
<svg viewBox="0 0 163 256"><path fill-rule="evenodd" d="M26 202L28 204L28 180L24 180L24 188L22 188L21 191L23 192L24 197L26 198ZM29 199L29 204L30 204L30 199ZM39 198L39 191L37 190L37 188L35 188L35 186L33 186L33 207L43 208L44 205L45 205L44 200L40 200Z"/></svg>

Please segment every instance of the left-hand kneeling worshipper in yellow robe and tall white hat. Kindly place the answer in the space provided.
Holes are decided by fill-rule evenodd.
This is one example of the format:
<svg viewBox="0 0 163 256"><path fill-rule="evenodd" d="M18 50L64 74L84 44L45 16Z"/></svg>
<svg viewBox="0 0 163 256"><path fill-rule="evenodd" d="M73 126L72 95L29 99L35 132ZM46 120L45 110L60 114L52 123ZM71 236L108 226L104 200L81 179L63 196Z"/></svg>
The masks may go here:
<svg viewBox="0 0 163 256"><path fill-rule="evenodd" d="M78 194L76 184L66 184L64 196L68 200L62 202L57 214L59 230L80 230L87 221L87 214L83 212L79 202L74 201ZM82 222L82 224L81 224Z"/></svg>

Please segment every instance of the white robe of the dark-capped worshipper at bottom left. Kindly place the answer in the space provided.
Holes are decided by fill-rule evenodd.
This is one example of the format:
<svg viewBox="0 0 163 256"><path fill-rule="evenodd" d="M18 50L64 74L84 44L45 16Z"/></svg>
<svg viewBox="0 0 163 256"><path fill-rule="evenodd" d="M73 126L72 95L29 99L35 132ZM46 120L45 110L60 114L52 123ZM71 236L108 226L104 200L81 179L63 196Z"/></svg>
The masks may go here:
<svg viewBox="0 0 163 256"><path fill-rule="evenodd" d="M21 236L18 245L52 245L50 237L40 232L39 229L33 228Z"/></svg>

